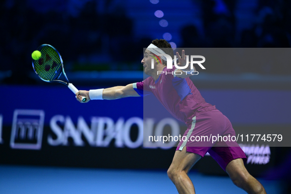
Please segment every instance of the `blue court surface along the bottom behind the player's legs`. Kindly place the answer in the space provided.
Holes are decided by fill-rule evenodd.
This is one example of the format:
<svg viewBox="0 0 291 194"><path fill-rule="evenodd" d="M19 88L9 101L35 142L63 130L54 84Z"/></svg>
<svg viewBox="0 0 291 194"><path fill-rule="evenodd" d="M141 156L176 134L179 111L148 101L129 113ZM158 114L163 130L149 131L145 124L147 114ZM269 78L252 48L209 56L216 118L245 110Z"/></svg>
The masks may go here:
<svg viewBox="0 0 291 194"><path fill-rule="evenodd" d="M245 194L228 177L190 172L197 194ZM279 181L259 181L280 194ZM177 194L165 170L0 165L0 194Z"/></svg>

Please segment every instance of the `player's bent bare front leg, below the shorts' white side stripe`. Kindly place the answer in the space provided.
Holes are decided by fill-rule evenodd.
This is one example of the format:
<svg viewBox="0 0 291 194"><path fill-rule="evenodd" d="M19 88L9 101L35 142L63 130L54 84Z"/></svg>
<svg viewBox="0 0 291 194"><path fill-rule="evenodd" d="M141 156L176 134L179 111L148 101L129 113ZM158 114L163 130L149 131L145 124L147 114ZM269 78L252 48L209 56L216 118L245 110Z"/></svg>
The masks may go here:
<svg viewBox="0 0 291 194"><path fill-rule="evenodd" d="M195 194L194 185L188 172L199 159L201 159L200 155L186 152L186 147L182 151L175 152L167 174L175 184L179 194Z"/></svg>

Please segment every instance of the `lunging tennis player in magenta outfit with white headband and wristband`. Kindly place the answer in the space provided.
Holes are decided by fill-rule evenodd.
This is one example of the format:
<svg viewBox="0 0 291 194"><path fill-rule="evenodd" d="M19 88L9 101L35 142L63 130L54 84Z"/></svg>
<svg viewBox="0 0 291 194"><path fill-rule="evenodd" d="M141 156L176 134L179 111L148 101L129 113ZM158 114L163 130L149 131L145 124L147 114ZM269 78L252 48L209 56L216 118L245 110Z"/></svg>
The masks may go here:
<svg viewBox="0 0 291 194"><path fill-rule="evenodd" d="M173 161L167 171L171 181L175 184L179 194L195 194L194 185L188 177L192 166L208 152L213 159L227 172L232 182L248 194L265 194L263 186L249 174L244 166L246 155L236 142L217 141L197 142L188 141L192 136L232 136L235 132L230 121L215 106L206 103L200 95L190 76L195 69L178 69L175 66L168 69L166 58L158 54L167 54L174 58L171 45L163 39L153 40L144 53L141 63L144 71L150 75L142 82L127 86L116 86L106 89L79 91L76 93L77 100L82 102L81 97L91 99L118 99L122 97L139 97L149 94L155 95L162 105L178 120L187 125L184 136L176 149ZM179 63L185 66L185 51L181 55L176 53ZM154 59L154 68L151 67ZM159 60L156 60L159 59ZM157 73L161 72L161 73ZM167 73L162 73L167 72ZM222 147L218 147L218 146Z"/></svg>

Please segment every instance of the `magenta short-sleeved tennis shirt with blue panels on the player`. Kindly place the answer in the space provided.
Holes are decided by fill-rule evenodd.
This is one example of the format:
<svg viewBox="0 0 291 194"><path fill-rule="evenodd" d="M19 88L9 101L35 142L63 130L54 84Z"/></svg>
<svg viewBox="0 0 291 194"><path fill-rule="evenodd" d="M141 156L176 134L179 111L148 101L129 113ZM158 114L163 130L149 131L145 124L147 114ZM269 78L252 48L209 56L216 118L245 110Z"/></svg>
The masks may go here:
<svg viewBox="0 0 291 194"><path fill-rule="evenodd" d="M193 122L194 116L216 108L205 102L189 77L177 77L174 74L176 70L175 66L172 69L165 67L164 73L156 81L153 77L148 77L142 82L134 83L133 89L140 96L155 95L173 117L188 126Z"/></svg>

